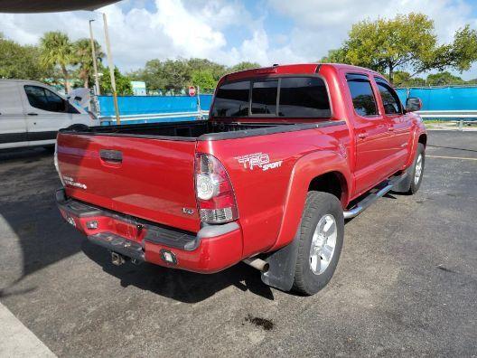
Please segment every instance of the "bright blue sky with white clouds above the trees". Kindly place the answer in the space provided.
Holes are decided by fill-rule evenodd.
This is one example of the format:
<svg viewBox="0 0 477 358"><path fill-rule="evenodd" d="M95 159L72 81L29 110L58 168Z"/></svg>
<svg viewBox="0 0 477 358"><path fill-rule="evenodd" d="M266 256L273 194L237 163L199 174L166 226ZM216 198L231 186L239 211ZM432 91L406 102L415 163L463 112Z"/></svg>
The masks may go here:
<svg viewBox="0 0 477 358"><path fill-rule="evenodd" d="M108 16L113 59L121 71L178 57L225 65L313 62L340 47L351 24L410 12L432 18L442 43L452 42L465 24L477 29L477 0L124 0L96 13L0 14L0 32L22 44L57 30L77 40L89 36L89 19L95 19L95 38L105 50L98 12ZM477 78L477 64L462 77Z"/></svg>

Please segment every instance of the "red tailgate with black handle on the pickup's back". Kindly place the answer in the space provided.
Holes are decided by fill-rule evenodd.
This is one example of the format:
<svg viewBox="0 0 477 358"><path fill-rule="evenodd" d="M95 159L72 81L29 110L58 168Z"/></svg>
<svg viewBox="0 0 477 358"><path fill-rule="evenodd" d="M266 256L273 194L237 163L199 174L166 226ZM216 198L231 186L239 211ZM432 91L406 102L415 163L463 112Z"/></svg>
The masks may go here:
<svg viewBox="0 0 477 358"><path fill-rule="evenodd" d="M61 133L57 152L68 196L199 231L193 183L195 141Z"/></svg>

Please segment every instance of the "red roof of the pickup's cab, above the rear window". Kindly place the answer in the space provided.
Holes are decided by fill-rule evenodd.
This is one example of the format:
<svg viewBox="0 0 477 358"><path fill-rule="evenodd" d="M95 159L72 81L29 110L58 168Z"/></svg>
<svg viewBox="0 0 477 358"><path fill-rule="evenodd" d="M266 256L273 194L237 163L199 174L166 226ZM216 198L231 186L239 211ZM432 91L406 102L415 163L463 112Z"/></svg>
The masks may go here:
<svg viewBox="0 0 477 358"><path fill-rule="evenodd" d="M346 69L350 71L367 71L373 74L379 74L376 71L366 69L364 67L353 66L344 63L295 63L285 65L273 65L271 67L261 67L257 69L238 71L229 73L224 76L223 79L227 80L239 80L241 78L252 77L255 75L267 74L267 73L280 73L280 74L304 74L304 73L316 73L320 67L329 66L335 69Z"/></svg>

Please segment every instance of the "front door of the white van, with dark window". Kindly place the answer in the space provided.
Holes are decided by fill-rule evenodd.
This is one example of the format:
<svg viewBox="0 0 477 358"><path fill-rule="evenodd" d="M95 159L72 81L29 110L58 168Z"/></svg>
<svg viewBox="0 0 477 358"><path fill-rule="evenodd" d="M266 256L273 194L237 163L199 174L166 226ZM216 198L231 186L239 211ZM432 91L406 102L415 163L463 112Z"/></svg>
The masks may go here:
<svg viewBox="0 0 477 358"><path fill-rule="evenodd" d="M23 85L23 104L31 145L53 144L58 130L70 127L73 114L79 113L68 101L40 85Z"/></svg>

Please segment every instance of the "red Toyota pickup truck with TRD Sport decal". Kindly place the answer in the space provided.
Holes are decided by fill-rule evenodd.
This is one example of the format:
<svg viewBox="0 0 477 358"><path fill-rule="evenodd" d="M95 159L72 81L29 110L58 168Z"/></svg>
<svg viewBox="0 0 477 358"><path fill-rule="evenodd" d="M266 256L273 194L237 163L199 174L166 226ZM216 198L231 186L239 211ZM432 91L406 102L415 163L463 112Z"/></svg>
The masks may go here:
<svg viewBox="0 0 477 358"><path fill-rule="evenodd" d="M213 273L244 261L312 295L332 278L346 219L418 190L419 108L359 67L231 73L209 120L61 130L56 200L115 264Z"/></svg>

